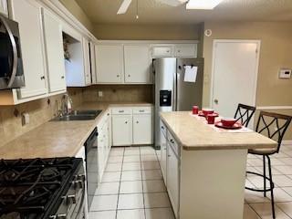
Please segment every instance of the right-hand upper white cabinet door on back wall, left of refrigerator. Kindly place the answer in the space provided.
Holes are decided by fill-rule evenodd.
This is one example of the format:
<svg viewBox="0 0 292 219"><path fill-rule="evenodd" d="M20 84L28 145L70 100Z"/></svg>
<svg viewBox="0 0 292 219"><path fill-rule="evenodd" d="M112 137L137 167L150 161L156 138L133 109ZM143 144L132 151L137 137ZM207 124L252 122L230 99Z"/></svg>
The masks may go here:
<svg viewBox="0 0 292 219"><path fill-rule="evenodd" d="M148 45L124 46L125 82L149 83L151 54Z"/></svg>

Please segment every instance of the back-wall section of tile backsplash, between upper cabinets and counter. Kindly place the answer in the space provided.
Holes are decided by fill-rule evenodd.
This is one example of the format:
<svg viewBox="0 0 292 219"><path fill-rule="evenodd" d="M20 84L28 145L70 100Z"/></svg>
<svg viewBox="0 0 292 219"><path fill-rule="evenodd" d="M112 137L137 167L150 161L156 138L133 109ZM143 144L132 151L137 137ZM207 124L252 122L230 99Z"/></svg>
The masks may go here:
<svg viewBox="0 0 292 219"><path fill-rule="evenodd" d="M102 97L99 96L102 92ZM84 101L153 102L152 85L96 85L83 92Z"/></svg>

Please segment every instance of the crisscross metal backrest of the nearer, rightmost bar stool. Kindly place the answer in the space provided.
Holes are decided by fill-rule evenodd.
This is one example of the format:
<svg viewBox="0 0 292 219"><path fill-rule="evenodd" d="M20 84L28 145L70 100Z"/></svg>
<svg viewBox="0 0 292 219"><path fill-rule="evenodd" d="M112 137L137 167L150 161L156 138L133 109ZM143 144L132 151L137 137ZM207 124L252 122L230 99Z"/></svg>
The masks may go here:
<svg viewBox="0 0 292 219"><path fill-rule="evenodd" d="M260 111L255 131L277 141L277 152L280 150L285 132L292 117L274 112Z"/></svg>

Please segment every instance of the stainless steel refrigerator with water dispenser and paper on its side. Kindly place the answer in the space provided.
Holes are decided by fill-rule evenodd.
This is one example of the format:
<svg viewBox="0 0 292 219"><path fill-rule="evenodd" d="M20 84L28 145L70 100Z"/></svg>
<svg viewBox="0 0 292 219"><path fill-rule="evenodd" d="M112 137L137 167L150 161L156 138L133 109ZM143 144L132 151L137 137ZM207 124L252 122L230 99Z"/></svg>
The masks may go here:
<svg viewBox="0 0 292 219"><path fill-rule="evenodd" d="M153 60L155 78L155 148L160 147L161 111L202 108L203 58L164 57ZM195 68L195 81L186 79L185 68Z"/></svg>

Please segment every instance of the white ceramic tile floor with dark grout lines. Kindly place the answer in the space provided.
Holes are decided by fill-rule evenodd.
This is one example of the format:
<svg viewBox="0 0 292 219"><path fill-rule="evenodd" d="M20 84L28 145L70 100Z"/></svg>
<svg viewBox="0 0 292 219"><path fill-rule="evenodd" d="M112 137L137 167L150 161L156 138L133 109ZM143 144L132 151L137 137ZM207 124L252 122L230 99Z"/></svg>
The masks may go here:
<svg viewBox="0 0 292 219"><path fill-rule="evenodd" d="M292 218L292 145L271 156L276 219ZM151 147L113 148L89 219L174 219L160 171L160 151ZM262 158L248 155L247 170L263 171ZM263 187L247 174L246 185ZM270 195L245 190L244 219L271 219Z"/></svg>

